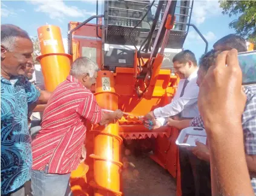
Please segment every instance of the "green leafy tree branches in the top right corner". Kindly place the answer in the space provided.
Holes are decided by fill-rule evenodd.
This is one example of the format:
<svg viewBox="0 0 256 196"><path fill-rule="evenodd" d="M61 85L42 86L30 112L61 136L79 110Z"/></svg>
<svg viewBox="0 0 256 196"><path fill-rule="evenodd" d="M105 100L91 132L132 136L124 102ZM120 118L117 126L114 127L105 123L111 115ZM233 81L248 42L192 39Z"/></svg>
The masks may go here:
<svg viewBox="0 0 256 196"><path fill-rule="evenodd" d="M239 15L237 20L229 24L236 33L245 37L248 41L256 45L256 1L218 1L223 9L223 14Z"/></svg>

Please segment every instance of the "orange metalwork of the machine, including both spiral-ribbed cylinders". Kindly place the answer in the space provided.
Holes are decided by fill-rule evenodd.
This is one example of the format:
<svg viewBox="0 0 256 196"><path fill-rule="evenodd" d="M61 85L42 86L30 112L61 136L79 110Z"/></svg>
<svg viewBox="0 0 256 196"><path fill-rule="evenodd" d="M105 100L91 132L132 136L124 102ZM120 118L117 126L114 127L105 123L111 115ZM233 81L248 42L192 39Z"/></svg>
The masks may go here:
<svg viewBox="0 0 256 196"><path fill-rule="evenodd" d="M70 30L79 25L78 22L70 22ZM47 29L50 27L50 31ZM45 39L57 40L61 43L60 30L57 27L41 27L38 30L41 36L42 56L39 58L43 69L45 86L52 91L57 84L67 77L70 70L70 56L64 54L62 46L45 46ZM42 36L42 34L44 36ZM51 37L49 38L51 34ZM99 35L102 31L99 29ZM82 56L83 47L96 49L96 63L102 68L102 40L96 36L96 25L87 24L73 33L73 60ZM60 45L60 44L59 44ZM47 49L48 47L48 49ZM136 53L137 55L137 53ZM136 58L136 55L134 58ZM44 58L48 60L44 61ZM63 58L60 59L60 58ZM116 68L116 72L100 71L97 77L96 86L92 89L95 92L96 100L103 109L116 110L133 113L134 115L145 115L156 107L162 107L170 103L176 93L176 86L179 78L171 75L171 70L160 69L163 56L158 55L153 67L153 80L150 81L148 92L139 98L135 90L138 83L137 58L134 68ZM50 61L52 60L52 62ZM65 64L64 69L60 65ZM57 73L57 74L56 74ZM49 77L54 74L58 78ZM110 80L111 89L108 91L102 88L102 78ZM144 86L140 81L139 85ZM86 163L81 163L76 171L71 172L70 184L74 195L123 195L120 172L120 145L123 139L147 139L156 138L154 148L154 159L161 166L166 168L173 177L179 179L179 157L175 145L179 131L171 127L162 127L158 130L149 131L137 118L123 117L119 122L107 126L88 125ZM180 183L177 183L177 195L181 195Z"/></svg>

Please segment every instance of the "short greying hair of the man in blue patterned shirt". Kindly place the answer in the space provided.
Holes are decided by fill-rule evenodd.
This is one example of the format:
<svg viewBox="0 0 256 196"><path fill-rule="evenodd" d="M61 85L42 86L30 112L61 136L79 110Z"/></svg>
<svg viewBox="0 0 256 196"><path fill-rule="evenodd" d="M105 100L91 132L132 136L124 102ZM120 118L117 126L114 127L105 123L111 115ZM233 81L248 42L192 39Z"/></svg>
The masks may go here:
<svg viewBox="0 0 256 196"><path fill-rule="evenodd" d="M4 46L9 51L13 49L15 45L15 40L17 37L23 37L25 39L30 39L28 33L16 25L4 24L1 25L1 45Z"/></svg>

